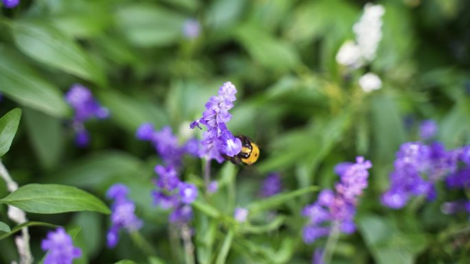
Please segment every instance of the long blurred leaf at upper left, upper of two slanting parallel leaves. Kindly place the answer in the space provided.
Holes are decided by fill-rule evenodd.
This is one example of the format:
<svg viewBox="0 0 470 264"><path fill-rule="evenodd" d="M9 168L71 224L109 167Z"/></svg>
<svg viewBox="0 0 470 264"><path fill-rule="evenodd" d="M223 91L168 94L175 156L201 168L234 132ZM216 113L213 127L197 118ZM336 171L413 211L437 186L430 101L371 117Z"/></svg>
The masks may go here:
<svg viewBox="0 0 470 264"><path fill-rule="evenodd" d="M72 38L60 30L38 23L12 24L16 47L38 62L85 80L106 85L104 72Z"/></svg>

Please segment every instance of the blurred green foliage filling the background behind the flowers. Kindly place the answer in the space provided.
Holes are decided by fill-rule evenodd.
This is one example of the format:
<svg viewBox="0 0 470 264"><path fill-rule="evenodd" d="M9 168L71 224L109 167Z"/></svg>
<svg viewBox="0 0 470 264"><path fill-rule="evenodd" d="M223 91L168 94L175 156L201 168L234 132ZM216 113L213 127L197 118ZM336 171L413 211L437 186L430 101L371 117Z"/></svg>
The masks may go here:
<svg viewBox="0 0 470 264"><path fill-rule="evenodd" d="M315 199L311 186L331 187L334 165L357 155L374 167L359 230L341 237L333 263L468 263L464 216L442 215L440 199L429 208L390 211L379 195L388 188L399 145L417 140L416 121L436 119L447 147L470 143L470 2L377 1L385 7L383 39L367 70L381 77L383 88L372 93L357 84L366 72L348 72L335 61L339 47L354 38L364 3L21 0L17 8L2 8L0 112L23 110L3 163L21 185L69 184L103 198L111 184L127 184L146 223L141 239L153 252L142 254L146 246L128 235L117 249L105 249L104 215L28 217L81 226L75 241L85 256L75 263L183 262L168 213L150 198L159 157L135 139L135 130L144 122L170 125L187 139L189 122L231 81L238 93L230 130L254 139L261 156L252 167L214 164L220 191L212 204L194 205L199 263L309 263L320 245L304 245L300 235L300 211ZM188 19L201 23L197 38L183 34ZM111 112L109 120L87 123L85 149L73 143L72 111L63 97L75 83L91 88ZM285 199L263 204L258 187L269 171L282 174ZM199 160L185 160L183 178L201 184ZM0 197L6 195L0 181ZM230 219L235 206L259 210L250 224L237 226ZM5 206L0 220L9 223ZM31 232L41 259L46 230ZM15 252L13 239L0 241L0 263L17 259Z"/></svg>

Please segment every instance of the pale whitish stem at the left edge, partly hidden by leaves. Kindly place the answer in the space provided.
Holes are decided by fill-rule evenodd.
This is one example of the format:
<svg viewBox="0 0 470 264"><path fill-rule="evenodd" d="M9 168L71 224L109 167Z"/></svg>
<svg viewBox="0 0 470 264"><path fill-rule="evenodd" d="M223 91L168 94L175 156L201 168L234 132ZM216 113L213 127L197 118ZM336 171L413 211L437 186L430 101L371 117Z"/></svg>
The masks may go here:
<svg viewBox="0 0 470 264"><path fill-rule="evenodd" d="M11 193L18 189L18 184L14 182L3 163L0 161L0 178L5 180L8 191ZM8 206L8 217L16 224L23 224L27 221L26 213L19 208ZM27 227L21 229L21 237L15 239L16 248L20 256L20 264L32 264L33 257L30 248L30 232Z"/></svg>

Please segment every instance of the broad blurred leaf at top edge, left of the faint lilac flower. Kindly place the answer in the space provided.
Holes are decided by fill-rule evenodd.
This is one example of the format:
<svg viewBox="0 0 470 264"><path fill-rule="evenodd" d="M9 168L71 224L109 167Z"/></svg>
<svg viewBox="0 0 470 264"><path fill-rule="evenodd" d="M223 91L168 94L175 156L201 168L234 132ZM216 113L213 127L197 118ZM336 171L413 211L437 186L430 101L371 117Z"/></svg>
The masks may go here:
<svg viewBox="0 0 470 264"><path fill-rule="evenodd" d="M179 40L186 17L158 5L133 3L118 9L115 21L133 45L155 47Z"/></svg>

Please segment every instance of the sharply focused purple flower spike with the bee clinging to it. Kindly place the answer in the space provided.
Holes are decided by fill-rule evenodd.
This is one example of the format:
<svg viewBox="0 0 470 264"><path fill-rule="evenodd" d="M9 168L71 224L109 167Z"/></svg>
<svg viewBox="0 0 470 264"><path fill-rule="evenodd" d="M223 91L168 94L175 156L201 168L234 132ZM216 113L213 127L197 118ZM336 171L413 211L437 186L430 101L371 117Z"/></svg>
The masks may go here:
<svg viewBox="0 0 470 264"><path fill-rule="evenodd" d="M201 156L208 160L215 159L222 163L223 155L233 157L241 151L240 139L237 139L226 125L232 118L228 111L234 107L235 94L235 86L231 82L225 82L219 88L219 96L210 97L205 104L203 117L190 125L190 128L201 128L202 124L208 129L201 141L203 145Z"/></svg>

